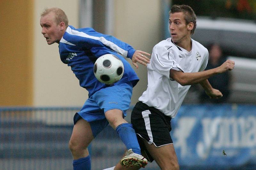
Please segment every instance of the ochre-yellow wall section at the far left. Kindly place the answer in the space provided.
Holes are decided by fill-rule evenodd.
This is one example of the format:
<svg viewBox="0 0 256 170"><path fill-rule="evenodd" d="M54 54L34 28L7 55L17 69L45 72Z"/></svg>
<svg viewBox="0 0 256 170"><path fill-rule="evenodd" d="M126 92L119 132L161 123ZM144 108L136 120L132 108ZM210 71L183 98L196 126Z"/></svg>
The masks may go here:
<svg viewBox="0 0 256 170"><path fill-rule="evenodd" d="M0 106L32 105L33 0L1 0Z"/></svg>

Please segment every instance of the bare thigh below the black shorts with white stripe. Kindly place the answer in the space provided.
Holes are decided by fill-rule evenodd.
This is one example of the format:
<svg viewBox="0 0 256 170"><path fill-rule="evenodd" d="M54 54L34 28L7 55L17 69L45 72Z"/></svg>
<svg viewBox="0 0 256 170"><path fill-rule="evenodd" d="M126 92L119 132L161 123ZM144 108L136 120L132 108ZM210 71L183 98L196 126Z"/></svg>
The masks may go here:
<svg viewBox="0 0 256 170"><path fill-rule="evenodd" d="M179 169L178 159L173 144L156 147L154 144L148 144L145 140L144 144L161 169Z"/></svg>

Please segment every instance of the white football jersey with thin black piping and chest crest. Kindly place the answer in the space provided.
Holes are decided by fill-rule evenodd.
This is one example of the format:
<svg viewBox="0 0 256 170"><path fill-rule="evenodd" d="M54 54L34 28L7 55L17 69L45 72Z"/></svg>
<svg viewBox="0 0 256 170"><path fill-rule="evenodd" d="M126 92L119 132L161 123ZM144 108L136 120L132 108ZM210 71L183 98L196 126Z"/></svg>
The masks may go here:
<svg viewBox="0 0 256 170"><path fill-rule="evenodd" d="M182 86L170 79L170 69L183 72L203 71L208 63L208 50L192 40L192 49L187 51L176 46L171 38L159 42L153 48L148 69L148 88L139 101L155 107L165 115L175 117L190 85Z"/></svg>

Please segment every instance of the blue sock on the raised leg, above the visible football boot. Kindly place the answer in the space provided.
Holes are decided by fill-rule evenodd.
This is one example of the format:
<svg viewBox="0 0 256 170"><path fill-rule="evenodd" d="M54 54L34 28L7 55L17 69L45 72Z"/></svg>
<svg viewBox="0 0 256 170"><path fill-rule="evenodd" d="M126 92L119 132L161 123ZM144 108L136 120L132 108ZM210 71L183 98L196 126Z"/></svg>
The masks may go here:
<svg viewBox="0 0 256 170"><path fill-rule="evenodd" d="M140 145L138 143L135 130L132 124L122 123L116 127L116 132L125 144L127 149L132 149L134 153L140 154Z"/></svg>

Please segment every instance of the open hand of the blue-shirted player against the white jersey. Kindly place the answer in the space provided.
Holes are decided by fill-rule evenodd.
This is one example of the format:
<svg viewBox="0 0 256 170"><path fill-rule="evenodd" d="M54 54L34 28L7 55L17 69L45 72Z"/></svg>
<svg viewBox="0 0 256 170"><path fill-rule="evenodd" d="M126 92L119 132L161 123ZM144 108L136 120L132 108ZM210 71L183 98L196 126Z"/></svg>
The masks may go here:
<svg viewBox="0 0 256 170"><path fill-rule="evenodd" d="M136 50L134 52L134 54L132 55L132 64L138 69L138 63L147 66L147 64L149 63L150 59L148 58L148 56L150 56L150 54L144 52L144 51L140 51L140 50Z"/></svg>

